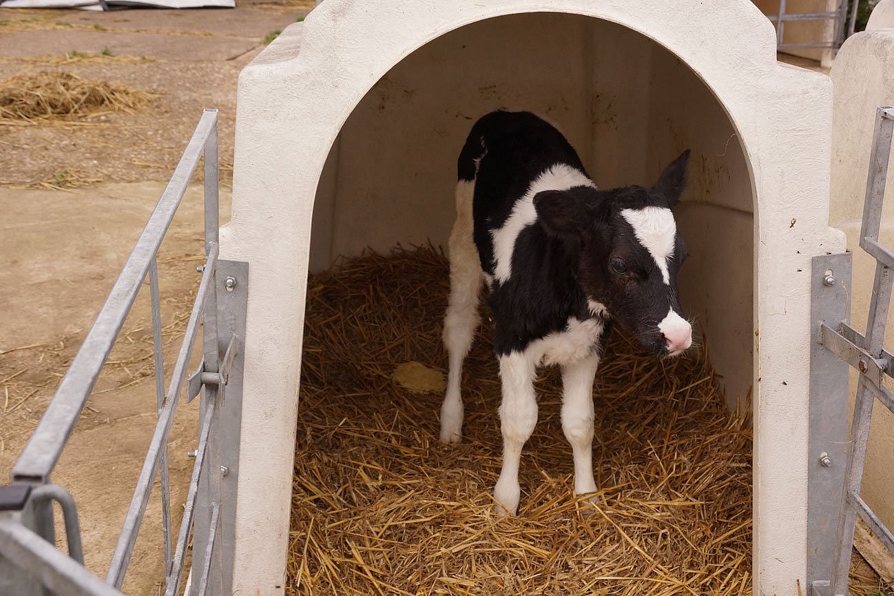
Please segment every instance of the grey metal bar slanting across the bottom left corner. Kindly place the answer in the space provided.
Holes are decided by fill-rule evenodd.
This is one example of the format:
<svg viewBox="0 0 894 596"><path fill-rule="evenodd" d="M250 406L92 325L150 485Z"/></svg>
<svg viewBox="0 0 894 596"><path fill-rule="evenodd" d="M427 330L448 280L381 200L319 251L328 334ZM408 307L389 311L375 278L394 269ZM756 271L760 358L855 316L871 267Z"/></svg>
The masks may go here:
<svg viewBox="0 0 894 596"><path fill-rule="evenodd" d="M10 519L0 519L0 557L24 569L55 593L123 596L55 545Z"/></svg>

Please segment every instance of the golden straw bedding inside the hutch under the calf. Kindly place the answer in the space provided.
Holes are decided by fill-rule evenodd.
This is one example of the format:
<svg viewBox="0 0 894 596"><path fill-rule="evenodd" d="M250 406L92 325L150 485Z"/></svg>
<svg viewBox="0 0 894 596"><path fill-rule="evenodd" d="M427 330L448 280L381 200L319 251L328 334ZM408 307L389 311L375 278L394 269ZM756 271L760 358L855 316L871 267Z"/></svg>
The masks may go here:
<svg viewBox="0 0 894 596"><path fill-rule="evenodd" d="M561 380L544 370L519 515L501 518L487 325L467 361L460 445L438 441L439 393L392 379L409 361L443 370L447 288L431 248L311 278L288 593L750 594L750 422L725 409L704 353L660 361L612 336L596 380L595 507L572 494Z"/></svg>

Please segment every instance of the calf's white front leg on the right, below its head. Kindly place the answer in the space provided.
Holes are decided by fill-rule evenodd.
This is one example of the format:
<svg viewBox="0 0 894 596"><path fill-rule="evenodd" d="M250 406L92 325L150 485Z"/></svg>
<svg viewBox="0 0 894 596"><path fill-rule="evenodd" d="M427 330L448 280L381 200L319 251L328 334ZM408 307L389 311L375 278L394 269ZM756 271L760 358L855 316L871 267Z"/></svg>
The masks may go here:
<svg viewBox="0 0 894 596"><path fill-rule="evenodd" d="M561 426L574 453L574 492L595 492L593 479L593 379L599 355L592 353L561 367Z"/></svg>

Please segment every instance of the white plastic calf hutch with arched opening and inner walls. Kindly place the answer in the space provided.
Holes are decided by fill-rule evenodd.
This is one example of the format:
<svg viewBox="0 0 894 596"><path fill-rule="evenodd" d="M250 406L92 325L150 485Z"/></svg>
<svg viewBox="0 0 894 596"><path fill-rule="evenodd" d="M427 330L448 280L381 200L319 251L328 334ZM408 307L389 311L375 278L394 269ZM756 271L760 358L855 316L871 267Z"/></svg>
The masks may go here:
<svg viewBox="0 0 894 596"><path fill-rule="evenodd" d="M681 302L730 402L753 388L755 594L797 593L811 259L845 241L828 226L831 82L778 63L746 0L326 0L241 73L222 240L251 263L235 593L283 592L308 270L445 245L457 153L496 108L557 123L605 188L692 149Z"/></svg>

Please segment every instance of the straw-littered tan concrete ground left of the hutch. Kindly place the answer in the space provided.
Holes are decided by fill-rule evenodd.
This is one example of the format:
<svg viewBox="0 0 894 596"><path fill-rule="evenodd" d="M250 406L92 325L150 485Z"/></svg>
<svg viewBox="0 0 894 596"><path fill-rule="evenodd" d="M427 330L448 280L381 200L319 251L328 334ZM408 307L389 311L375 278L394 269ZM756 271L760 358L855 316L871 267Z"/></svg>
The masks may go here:
<svg viewBox="0 0 894 596"><path fill-rule="evenodd" d="M0 86L20 72L62 69L155 94L132 113L50 123L0 118L0 483L114 284L202 109L220 110L222 220L229 212L236 80L262 40L312 2L240 2L232 10L0 8ZM202 260L200 175L159 251L170 376ZM114 550L155 427L148 294L81 415L53 481L78 503L87 565ZM197 400L198 401L198 400ZM179 524L196 411L182 406L169 442ZM158 482L124 583L156 594L164 578ZM176 528L174 528L176 532Z"/></svg>

